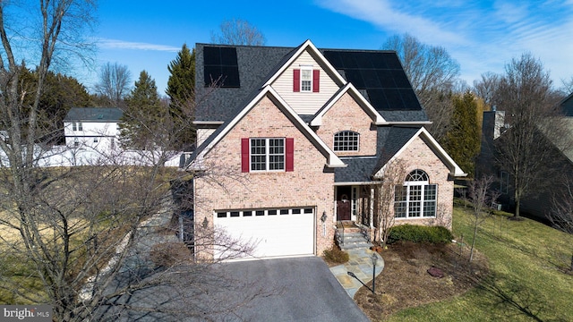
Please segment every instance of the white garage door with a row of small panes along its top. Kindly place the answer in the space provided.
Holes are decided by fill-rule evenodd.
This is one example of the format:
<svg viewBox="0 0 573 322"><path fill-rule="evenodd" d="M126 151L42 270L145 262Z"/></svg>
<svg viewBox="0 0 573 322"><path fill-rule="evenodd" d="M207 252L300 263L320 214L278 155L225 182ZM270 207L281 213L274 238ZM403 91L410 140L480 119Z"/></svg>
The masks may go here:
<svg viewBox="0 0 573 322"><path fill-rule="evenodd" d="M275 208L218 211L214 224L235 240L251 242L254 258L272 258L312 255L314 220L314 208ZM227 256L216 250L216 258Z"/></svg>

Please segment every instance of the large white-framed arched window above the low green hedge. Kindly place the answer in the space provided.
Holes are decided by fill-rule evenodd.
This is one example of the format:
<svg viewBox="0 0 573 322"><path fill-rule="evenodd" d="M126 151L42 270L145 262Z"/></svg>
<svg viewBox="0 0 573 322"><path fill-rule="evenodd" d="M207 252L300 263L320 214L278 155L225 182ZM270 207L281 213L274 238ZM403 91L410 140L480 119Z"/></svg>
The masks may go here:
<svg viewBox="0 0 573 322"><path fill-rule="evenodd" d="M416 169L406 175L404 185L397 186L394 195L394 216L415 218L436 216L438 185L430 184L423 170Z"/></svg>

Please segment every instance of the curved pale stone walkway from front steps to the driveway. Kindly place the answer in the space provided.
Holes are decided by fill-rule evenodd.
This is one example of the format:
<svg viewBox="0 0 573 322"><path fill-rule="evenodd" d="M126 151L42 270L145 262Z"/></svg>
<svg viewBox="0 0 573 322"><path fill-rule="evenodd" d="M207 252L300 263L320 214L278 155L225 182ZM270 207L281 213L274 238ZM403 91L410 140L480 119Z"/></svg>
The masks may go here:
<svg viewBox="0 0 573 322"><path fill-rule="evenodd" d="M330 272L337 278L338 283L342 285L350 298L354 299L358 289L361 288L363 284L368 284L372 281L372 254L375 253L378 257L376 276L380 275L382 269L384 269L384 259L381 258L380 254L366 248L347 250L346 252L348 253L349 260L345 264L330 267ZM348 272L354 273L363 284L348 275Z"/></svg>

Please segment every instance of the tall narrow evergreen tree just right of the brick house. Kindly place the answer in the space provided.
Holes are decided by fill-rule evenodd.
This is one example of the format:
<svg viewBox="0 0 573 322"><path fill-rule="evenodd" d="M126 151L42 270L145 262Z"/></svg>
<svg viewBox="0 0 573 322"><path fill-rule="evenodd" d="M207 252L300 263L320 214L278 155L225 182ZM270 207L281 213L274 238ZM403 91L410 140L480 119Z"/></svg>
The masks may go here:
<svg viewBox="0 0 573 322"><path fill-rule="evenodd" d="M475 173L475 156L480 149L477 100L470 91L452 97L454 111L444 148L458 165L471 177Z"/></svg>

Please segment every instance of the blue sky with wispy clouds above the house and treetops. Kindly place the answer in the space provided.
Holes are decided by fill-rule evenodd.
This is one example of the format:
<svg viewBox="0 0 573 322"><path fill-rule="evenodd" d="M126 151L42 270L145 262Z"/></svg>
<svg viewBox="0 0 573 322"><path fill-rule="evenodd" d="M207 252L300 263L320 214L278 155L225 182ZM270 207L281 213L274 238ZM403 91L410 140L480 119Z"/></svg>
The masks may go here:
<svg viewBox="0 0 573 322"><path fill-rule="evenodd" d="M101 0L96 64L127 65L133 81L146 70L164 94L167 65L183 44L209 43L220 22L233 18L261 30L267 46L310 38L322 48L381 49L407 32L445 47L469 85L524 52L541 59L557 87L573 77L573 0ZM90 89L97 72L79 78Z"/></svg>

